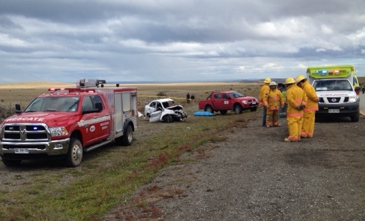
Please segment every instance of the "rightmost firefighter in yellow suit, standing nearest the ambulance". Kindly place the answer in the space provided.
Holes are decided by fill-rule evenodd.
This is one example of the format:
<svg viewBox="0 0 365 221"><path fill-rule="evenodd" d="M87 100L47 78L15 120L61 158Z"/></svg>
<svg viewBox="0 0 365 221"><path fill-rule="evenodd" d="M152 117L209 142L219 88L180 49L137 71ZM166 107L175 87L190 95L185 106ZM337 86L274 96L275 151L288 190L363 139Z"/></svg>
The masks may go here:
<svg viewBox="0 0 365 221"><path fill-rule="evenodd" d="M312 138L314 133L316 111L318 111L318 96L316 94L316 89L314 89L314 87L309 84L305 76L298 76L295 78L295 82L297 82L298 87L301 87L303 91L305 91L305 94L308 98L307 105L305 105L305 108L303 109L303 125L300 136Z"/></svg>

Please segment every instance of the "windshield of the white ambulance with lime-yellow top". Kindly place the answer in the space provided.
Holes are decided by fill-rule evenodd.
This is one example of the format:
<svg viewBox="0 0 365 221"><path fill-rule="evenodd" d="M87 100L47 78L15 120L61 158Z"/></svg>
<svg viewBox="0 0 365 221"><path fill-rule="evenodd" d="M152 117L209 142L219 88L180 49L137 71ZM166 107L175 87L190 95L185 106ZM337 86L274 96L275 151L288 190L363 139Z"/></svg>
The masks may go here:
<svg viewBox="0 0 365 221"><path fill-rule="evenodd" d="M316 91L352 91L352 85L346 79L316 80L313 87Z"/></svg>

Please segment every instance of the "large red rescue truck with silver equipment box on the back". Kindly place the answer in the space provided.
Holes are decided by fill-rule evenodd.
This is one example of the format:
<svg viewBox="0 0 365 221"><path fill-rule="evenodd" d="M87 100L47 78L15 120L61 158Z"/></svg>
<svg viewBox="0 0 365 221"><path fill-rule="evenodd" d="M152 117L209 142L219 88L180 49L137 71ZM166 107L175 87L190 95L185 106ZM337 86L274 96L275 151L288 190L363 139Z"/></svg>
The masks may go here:
<svg viewBox="0 0 365 221"><path fill-rule="evenodd" d="M104 87L105 80L80 80L51 88L0 125L0 156L6 166L26 159L64 159L79 166L83 153L115 142L131 145L138 128L137 89Z"/></svg>

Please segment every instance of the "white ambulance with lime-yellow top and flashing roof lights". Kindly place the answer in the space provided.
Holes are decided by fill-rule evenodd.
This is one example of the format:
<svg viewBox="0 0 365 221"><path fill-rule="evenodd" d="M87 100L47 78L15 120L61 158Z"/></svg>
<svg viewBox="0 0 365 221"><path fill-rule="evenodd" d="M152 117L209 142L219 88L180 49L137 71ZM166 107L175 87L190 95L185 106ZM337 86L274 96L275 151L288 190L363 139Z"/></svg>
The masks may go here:
<svg viewBox="0 0 365 221"><path fill-rule="evenodd" d="M359 91L355 67L351 64L308 67L307 79L319 98L318 117L349 116L359 121Z"/></svg>

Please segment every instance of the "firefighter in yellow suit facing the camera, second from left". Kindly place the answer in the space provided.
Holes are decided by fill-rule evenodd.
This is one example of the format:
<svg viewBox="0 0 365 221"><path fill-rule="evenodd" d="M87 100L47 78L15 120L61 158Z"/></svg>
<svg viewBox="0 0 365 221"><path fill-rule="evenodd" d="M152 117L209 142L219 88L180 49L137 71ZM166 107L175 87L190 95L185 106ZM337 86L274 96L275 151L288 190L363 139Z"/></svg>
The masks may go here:
<svg viewBox="0 0 365 221"><path fill-rule="evenodd" d="M276 86L276 82L270 82L270 91L268 95L263 96L263 104L266 107L266 127L279 126L279 108L284 107L282 91Z"/></svg>

